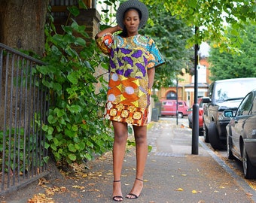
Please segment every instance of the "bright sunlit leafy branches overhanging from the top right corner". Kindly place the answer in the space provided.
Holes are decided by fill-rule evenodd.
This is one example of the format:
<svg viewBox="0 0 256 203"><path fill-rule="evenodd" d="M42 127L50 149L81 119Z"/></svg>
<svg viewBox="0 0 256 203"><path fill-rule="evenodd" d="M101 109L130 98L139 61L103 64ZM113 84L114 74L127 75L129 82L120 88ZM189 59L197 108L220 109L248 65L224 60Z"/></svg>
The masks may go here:
<svg viewBox="0 0 256 203"><path fill-rule="evenodd" d="M256 23L254 0L144 0L147 5L159 5L178 17L191 28L200 28L188 44L200 44L202 41L215 41L221 50L239 49L239 33L246 25ZM151 16L151 18L153 18ZM230 26L236 38L227 38L225 24Z"/></svg>

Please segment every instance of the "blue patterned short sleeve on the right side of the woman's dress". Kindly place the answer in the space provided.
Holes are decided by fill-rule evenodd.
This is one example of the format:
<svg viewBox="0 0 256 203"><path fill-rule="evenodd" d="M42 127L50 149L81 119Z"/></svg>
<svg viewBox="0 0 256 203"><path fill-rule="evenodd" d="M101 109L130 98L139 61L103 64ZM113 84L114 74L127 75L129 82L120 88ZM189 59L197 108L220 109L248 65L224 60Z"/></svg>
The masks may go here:
<svg viewBox="0 0 256 203"><path fill-rule="evenodd" d="M148 69L156 68L159 65L163 65L164 59L160 50L158 50L157 45L155 44L152 38L148 40L148 51L149 51L149 59L148 59Z"/></svg>

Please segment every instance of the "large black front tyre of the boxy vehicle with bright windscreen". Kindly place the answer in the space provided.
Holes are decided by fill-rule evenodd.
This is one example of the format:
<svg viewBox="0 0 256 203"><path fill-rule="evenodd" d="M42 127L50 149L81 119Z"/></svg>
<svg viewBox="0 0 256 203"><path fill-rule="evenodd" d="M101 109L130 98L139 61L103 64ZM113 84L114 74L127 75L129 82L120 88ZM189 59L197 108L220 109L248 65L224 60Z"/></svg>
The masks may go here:
<svg viewBox="0 0 256 203"><path fill-rule="evenodd" d="M214 150L224 150L226 145L220 140L216 124L211 122L208 129L209 142Z"/></svg>

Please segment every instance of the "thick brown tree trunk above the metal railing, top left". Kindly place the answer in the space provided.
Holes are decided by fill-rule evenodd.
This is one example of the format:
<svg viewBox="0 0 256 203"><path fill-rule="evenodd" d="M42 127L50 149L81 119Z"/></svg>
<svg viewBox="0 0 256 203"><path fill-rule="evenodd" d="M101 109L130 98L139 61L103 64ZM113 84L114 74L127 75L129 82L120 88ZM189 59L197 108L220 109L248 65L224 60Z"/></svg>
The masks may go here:
<svg viewBox="0 0 256 203"><path fill-rule="evenodd" d="M0 42L42 56L49 3L49 0L0 0Z"/></svg>

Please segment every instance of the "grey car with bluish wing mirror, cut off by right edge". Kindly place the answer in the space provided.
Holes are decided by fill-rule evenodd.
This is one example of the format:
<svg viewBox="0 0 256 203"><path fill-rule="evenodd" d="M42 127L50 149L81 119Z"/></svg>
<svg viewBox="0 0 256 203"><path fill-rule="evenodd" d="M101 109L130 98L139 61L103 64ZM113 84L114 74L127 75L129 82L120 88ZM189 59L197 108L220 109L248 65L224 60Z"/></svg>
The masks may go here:
<svg viewBox="0 0 256 203"><path fill-rule="evenodd" d="M256 89L242 100L236 114L225 110L231 117L227 125L227 157L242 161L245 178L256 178Z"/></svg>

